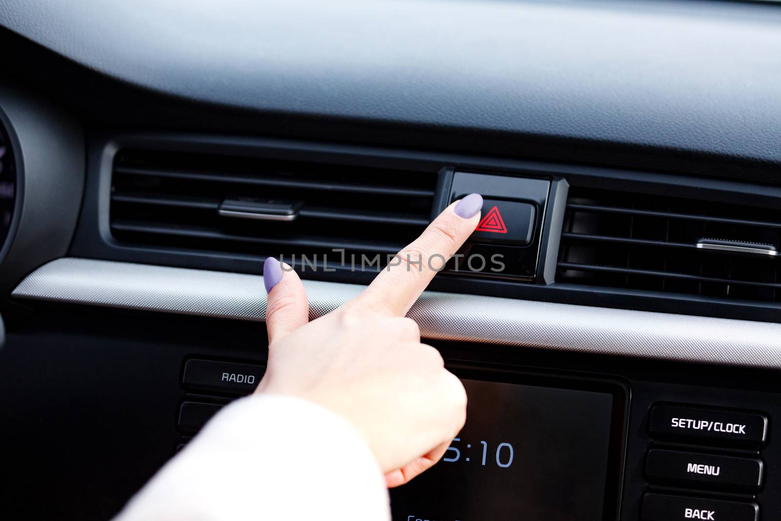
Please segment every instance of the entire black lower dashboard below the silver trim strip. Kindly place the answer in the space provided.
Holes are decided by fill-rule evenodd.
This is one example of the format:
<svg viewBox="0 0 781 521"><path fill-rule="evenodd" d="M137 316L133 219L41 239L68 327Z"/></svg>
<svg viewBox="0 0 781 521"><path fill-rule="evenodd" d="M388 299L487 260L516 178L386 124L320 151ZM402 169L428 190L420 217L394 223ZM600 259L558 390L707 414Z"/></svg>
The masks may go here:
<svg viewBox="0 0 781 521"><path fill-rule="evenodd" d="M0 353L0 412L16 426L2 436L14 449L4 512L109 519L214 413L254 389L262 338L262 323L39 309ZM394 521L781 512L773 371L431 343L462 378L468 415L437 466L391 491ZM34 490L51 501L27 501Z"/></svg>

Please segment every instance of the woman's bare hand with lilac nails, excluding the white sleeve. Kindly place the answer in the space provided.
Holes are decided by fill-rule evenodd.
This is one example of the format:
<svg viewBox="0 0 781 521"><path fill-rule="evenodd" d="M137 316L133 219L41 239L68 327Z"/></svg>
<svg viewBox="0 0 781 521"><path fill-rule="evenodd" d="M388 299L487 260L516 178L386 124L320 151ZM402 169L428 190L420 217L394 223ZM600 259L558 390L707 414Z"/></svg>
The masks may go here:
<svg viewBox="0 0 781 521"><path fill-rule="evenodd" d="M298 275L276 259L263 266L269 362L255 392L304 398L346 419L369 444L389 487L433 466L464 426L461 381L444 369L439 351L420 342L418 325L405 315L472 234L482 205L478 194L450 205L399 252L401 262L311 323Z"/></svg>

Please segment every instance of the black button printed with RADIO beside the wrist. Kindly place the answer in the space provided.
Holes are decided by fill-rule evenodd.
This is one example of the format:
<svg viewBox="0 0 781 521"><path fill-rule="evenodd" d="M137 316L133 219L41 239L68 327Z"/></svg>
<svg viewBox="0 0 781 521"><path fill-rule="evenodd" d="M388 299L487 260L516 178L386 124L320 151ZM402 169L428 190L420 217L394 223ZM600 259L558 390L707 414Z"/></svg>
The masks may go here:
<svg viewBox="0 0 781 521"><path fill-rule="evenodd" d="M205 391L248 394L255 390L266 368L254 364L187 360L182 377L185 387Z"/></svg>

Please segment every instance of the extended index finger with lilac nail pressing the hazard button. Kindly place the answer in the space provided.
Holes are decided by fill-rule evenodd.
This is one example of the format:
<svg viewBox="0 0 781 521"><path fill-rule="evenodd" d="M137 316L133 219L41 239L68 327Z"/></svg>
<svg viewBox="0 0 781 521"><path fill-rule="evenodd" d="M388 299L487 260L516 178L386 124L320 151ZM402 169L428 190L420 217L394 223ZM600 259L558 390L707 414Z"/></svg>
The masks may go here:
<svg viewBox="0 0 781 521"><path fill-rule="evenodd" d="M362 304L392 316L405 316L434 275L475 230L482 208L480 194L469 194L444 209L369 284L359 297Z"/></svg>

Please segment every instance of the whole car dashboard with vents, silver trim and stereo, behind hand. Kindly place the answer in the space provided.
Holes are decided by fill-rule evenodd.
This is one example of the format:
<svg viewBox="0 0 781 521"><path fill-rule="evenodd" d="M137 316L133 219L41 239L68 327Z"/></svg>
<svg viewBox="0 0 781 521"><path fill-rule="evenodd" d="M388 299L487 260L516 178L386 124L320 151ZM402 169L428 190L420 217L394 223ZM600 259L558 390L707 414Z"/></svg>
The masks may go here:
<svg viewBox="0 0 781 521"><path fill-rule="evenodd" d="M408 314L467 422L394 521L776 519L779 26L770 2L7 0L0 516L110 519L249 394L266 257L316 319L477 192Z"/></svg>

